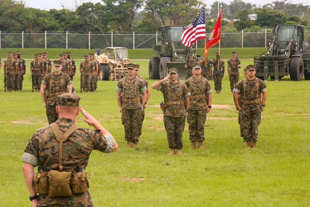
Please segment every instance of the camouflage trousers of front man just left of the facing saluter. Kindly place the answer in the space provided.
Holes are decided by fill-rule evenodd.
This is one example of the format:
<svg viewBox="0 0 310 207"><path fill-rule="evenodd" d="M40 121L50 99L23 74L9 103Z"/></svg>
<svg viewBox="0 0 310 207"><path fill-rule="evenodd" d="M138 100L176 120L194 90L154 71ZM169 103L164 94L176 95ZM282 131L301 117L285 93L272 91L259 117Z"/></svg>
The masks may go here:
<svg viewBox="0 0 310 207"><path fill-rule="evenodd" d="M140 122L141 109L122 109L122 124L124 125L126 141L139 142Z"/></svg>

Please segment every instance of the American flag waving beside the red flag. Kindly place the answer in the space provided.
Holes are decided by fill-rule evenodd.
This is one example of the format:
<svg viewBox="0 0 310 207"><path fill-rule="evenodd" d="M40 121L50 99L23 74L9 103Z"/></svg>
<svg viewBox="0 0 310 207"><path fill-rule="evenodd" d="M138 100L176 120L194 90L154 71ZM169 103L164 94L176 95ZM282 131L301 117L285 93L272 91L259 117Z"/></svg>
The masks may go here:
<svg viewBox="0 0 310 207"><path fill-rule="evenodd" d="M192 46L197 39L206 38L205 8L198 14L192 24L188 25L182 33L181 41L186 47Z"/></svg>

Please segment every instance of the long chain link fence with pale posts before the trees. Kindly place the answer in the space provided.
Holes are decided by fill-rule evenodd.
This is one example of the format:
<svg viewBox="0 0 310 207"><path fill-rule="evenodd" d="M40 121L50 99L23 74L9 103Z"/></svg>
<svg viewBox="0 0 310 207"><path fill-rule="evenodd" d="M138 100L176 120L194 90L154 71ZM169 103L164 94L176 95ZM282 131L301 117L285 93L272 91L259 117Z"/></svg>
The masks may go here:
<svg viewBox="0 0 310 207"><path fill-rule="evenodd" d="M221 47L268 47L272 32L222 33ZM206 37L209 37L206 34ZM310 40L310 31L304 31L305 40ZM0 48L73 48L94 49L105 47L127 47L147 49L160 40L160 34L71 34L42 31L40 33L5 33L0 31ZM207 39L206 39L207 40ZM205 39L193 45L205 47Z"/></svg>

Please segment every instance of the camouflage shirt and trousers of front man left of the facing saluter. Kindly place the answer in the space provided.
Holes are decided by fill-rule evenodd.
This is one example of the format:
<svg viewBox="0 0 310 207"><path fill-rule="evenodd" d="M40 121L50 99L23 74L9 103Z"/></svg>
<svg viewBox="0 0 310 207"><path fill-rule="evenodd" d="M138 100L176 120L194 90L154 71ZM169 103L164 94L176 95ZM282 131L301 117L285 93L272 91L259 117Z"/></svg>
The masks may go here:
<svg viewBox="0 0 310 207"><path fill-rule="evenodd" d="M123 98L134 99L140 97L140 92L146 90L145 83L142 79L135 76L133 79L125 77L117 83L116 90L123 92ZM136 83L137 82L137 83ZM137 84L137 85L136 85ZM125 130L125 140L132 143L139 142L139 128L141 124L141 108L139 102L122 102L122 124Z"/></svg>

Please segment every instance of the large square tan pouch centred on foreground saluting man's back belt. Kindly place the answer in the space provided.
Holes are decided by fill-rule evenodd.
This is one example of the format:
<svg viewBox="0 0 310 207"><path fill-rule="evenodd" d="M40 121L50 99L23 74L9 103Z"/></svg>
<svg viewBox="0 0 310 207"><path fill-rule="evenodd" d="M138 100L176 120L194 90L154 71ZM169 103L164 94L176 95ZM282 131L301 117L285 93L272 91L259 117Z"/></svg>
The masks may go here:
<svg viewBox="0 0 310 207"><path fill-rule="evenodd" d="M48 196L72 196L70 178L72 172L50 170L48 172Z"/></svg>

